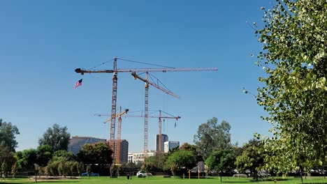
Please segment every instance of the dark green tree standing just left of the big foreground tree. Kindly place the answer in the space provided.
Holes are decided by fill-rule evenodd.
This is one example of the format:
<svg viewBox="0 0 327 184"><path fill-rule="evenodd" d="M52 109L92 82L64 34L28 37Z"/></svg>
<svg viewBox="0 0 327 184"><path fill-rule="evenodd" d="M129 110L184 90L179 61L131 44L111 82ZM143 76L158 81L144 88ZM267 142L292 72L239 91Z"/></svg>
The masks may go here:
<svg viewBox="0 0 327 184"><path fill-rule="evenodd" d="M249 169L254 178L258 179L258 171L263 167L263 158L265 157L263 150L263 143L256 139L249 140L245 144L245 150L242 155L236 158L235 166L238 171L245 171Z"/></svg>

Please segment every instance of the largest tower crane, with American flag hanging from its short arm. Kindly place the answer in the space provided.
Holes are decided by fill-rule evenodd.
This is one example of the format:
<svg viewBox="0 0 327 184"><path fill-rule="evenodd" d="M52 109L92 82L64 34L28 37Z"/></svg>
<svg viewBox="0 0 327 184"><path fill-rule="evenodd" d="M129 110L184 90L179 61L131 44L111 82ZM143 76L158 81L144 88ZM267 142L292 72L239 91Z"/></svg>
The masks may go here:
<svg viewBox="0 0 327 184"><path fill-rule="evenodd" d="M118 72L182 72L182 71L213 71L218 70L216 67L211 68L123 68L117 69L117 58L113 59L112 70L84 70L76 68L75 72L84 75L85 73L112 73L112 100L111 100L111 123L110 123L110 141L115 140L116 125L116 105L117 105L117 75ZM114 149L114 145L111 145Z"/></svg>

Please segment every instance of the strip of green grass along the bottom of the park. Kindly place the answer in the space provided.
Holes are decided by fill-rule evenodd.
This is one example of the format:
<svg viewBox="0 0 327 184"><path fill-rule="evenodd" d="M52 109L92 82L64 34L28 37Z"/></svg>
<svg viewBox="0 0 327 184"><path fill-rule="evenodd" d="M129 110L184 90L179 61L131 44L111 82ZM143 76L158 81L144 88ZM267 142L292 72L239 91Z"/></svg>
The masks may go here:
<svg viewBox="0 0 327 184"><path fill-rule="evenodd" d="M269 178L270 181L252 181L252 178L227 178L223 177L223 183L255 183L255 184L263 184L263 183L275 183L272 181L272 178ZM327 183L327 179L324 177L312 177L303 179L304 183ZM34 180L29 180L28 178L6 178L6 181L0 181L0 183L34 183ZM68 179L68 180L49 180L49 181L38 181L38 183L58 183L58 184L91 184L91 183L99 183L99 184L195 184L195 183L220 183L220 178L206 178L206 179L182 179L182 178L163 178L163 176L152 176L148 178L136 178L133 177L131 180L127 180L126 176L122 176L120 178L108 178L108 177L90 177L90 178L82 178L82 179ZM277 182L280 184L284 183L300 183L300 178L277 178Z"/></svg>

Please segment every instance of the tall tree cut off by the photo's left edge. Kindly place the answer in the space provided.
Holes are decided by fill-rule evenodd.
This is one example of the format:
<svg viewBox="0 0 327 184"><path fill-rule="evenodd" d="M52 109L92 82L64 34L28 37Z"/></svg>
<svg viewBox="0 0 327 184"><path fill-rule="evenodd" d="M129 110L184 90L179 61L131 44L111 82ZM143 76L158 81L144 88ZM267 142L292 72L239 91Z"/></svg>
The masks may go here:
<svg viewBox="0 0 327 184"><path fill-rule="evenodd" d="M3 122L0 118L0 144L10 148L10 151L15 151L17 147L16 135L20 132L15 125Z"/></svg>

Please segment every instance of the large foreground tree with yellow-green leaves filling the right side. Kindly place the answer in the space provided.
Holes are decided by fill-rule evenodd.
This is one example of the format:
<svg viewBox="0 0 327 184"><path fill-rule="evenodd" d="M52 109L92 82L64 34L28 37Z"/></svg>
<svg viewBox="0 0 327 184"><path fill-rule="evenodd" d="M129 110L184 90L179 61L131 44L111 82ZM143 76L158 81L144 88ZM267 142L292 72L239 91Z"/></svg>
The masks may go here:
<svg viewBox="0 0 327 184"><path fill-rule="evenodd" d="M307 160L322 163L326 155L326 4L279 0L269 10L262 8L264 26L256 33L263 51L257 64L266 75L259 77L264 86L257 100L269 114L263 119L273 125L274 136L265 144L279 159L270 159L271 167L303 171ZM285 162L291 164L280 164Z"/></svg>

